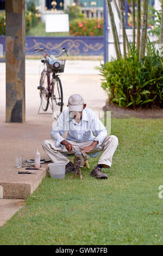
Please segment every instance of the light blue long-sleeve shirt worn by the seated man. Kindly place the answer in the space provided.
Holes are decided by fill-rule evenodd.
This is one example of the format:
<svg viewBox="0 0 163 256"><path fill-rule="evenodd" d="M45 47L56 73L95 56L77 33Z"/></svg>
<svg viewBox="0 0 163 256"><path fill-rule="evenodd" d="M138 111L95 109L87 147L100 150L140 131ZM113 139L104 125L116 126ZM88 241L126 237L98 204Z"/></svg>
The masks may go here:
<svg viewBox="0 0 163 256"><path fill-rule="evenodd" d="M64 138L61 137L61 135L64 135L67 130L68 134L66 139L68 141L98 141L96 147L99 147L107 136L107 131L103 123L99 120L95 112L89 108L83 109L82 119L79 124L76 123L74 118L70 117L68 109L60 114L51 130L51 137L56 143L55 147L64 147L64 145L60 144L64 141Z"/></svg>

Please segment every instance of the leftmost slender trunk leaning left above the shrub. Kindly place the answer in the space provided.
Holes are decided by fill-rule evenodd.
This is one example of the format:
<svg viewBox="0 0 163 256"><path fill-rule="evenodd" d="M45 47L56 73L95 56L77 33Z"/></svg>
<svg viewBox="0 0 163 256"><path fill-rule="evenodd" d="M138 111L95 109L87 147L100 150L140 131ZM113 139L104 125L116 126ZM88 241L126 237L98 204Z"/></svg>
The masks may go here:
<svg viewBox="0 0 163 256"><path fill-rule="evenodd" d="M116 57L118 59L118 58L121 57L120 42L119 42L119 39L118 39L117 28L116 28L115 21L114 21L114 15L112 13L110 0L107 0L107 3L108 3L108 10L109 10L109 16L110 16L112 35L113 35L113 39L114 39Z"/></svg>

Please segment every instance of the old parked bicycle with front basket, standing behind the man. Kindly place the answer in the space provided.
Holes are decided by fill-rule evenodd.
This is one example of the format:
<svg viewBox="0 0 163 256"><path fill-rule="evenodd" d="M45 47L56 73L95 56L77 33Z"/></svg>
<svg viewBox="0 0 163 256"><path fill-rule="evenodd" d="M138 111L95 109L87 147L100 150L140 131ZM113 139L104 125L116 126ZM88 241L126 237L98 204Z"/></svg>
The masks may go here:
<svg viewBox="0 0 163 256"><path fill-rule="evenodd" d="M40 51L42 53L44 58L41 59L41 62L45 65L45 68L41 72L40 86L37 87L37 89L40 90L40 107L42 106L43 111L47 111L50 103L49 100L51 99L52 105L51 103L50 105L53 111L53 117L54 119L58 119L59 114L62 112L62 107L64 106L62 84L59 74L64 72L66 60L57 58L64 52L68 56L67 50L66 48L62 48L61 52L57 55L49 55L46 48L40 48L38 45L37 47L38 48L35 48L34 51Z"/></svg>

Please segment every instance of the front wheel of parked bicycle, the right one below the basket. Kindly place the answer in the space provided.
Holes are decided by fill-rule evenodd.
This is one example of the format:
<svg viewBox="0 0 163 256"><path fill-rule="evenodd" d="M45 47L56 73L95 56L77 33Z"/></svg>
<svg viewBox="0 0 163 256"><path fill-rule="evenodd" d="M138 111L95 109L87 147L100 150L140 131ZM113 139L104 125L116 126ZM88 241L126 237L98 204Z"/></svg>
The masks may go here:
<svg viewBox="0 0 163 256"><path fill-rule="evenodd" d="M53 117L58 119L63 108L63 92L62 84L60 78L56 76L53 80L52 92L51 92L51 101L52 101L52 111Z"/></svg>

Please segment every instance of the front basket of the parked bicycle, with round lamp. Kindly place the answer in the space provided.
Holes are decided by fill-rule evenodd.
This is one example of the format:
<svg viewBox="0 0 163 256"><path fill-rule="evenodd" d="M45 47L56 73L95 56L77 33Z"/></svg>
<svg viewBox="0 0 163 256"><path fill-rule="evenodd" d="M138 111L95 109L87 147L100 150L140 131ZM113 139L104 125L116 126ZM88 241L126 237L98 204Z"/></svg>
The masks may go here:
<svg viewBox="0 0 163 256"><path fill-rule="evenodd" d="M47 63L48 72L62 73L65 69L65 61L62 59L49 59Z"/></svg>

